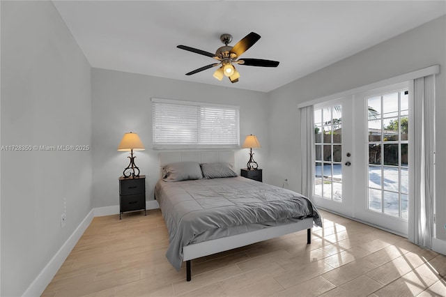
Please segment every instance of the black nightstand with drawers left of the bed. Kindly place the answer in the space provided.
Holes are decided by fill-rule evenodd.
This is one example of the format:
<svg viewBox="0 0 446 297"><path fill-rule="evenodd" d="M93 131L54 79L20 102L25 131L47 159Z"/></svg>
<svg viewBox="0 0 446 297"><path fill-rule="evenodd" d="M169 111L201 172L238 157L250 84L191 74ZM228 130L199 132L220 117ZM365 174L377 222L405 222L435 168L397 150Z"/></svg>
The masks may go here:
<svg viewBox="0 0 446 297"><path fill-rule="evenodd" d="M119 220L121 214L127 211L146 211L146 176L135 178L119 178Z"/></svg>

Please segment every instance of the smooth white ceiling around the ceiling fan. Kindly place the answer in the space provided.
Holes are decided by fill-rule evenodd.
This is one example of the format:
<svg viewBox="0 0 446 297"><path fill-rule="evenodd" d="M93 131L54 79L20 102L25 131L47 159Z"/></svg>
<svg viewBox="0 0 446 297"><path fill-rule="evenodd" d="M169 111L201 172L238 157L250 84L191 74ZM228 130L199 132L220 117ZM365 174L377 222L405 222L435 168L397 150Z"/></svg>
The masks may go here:
<svg viewBox="0 0 446 297"><path fill-rule="evenodd" d="M268 92L445 15L445 1L56 1L92 67ZM213 78L208 56L230 33L235 45L261 39L242 58L277 68L238 66L240 80Z"/></svg>

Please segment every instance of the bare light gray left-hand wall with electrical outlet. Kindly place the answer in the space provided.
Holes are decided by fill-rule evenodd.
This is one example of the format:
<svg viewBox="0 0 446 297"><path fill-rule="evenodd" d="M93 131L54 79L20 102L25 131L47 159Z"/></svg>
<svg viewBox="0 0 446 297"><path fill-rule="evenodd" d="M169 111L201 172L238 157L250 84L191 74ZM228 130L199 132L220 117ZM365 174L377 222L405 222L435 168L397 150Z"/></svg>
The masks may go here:
<svg viewBox="0 0 446 297"><path fill-rule="evenodd" d="M91 67L51 1L1 1L9 145L91 145ZM91 161L91 151L1 151L1 296L24 294L91 211Z"/></svg>

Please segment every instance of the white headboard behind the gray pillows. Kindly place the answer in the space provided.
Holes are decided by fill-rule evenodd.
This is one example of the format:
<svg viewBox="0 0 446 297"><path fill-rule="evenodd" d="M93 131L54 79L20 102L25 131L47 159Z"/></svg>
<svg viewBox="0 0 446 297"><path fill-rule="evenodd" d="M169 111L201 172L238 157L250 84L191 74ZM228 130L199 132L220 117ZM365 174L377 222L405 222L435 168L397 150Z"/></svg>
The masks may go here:
<svg viewBox="0 0 446 297"><path fill-rule="evenodd" d="M163 152L158 155L160 167L174 162L229 163L234 169L233 151L177 151Z"/></svg>

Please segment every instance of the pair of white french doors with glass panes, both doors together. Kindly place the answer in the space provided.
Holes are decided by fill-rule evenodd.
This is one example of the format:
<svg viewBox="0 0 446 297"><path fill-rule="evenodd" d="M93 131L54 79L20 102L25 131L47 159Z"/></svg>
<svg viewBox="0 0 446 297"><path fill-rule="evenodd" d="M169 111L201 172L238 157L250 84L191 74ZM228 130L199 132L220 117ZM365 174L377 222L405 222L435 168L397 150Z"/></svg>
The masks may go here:
<svg viewBox="0 0 446 297"><path fill-rule="evenodd" d="M315 106L317 206L408 234L408 107L407 84Z"/></svg>

